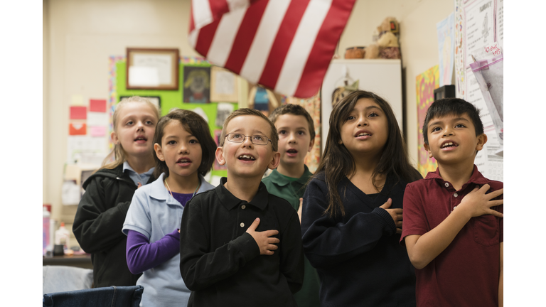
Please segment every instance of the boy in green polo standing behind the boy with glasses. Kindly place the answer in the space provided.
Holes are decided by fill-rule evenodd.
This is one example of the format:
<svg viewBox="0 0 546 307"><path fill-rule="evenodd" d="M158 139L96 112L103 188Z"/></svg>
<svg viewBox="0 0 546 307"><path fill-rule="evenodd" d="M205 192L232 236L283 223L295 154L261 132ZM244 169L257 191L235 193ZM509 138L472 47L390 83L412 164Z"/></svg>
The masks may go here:
<svg viewBox="0 0 546 307"><path fill-rule="evenodd" d="M315 126L311 115L297 104L284 104L274 109L269 116L271 122L279 133L279 153L281 162L277 169L262 182L270 194L287 200L294 210L297 210L301 222L301 201L305 192L305 184L311 175L309 168L304 163L306 154L311 151L315 141ZM294 298L300 307L318 307L319 300L319 274L304 259L305 275L304 285L294 294Z"/></svg>

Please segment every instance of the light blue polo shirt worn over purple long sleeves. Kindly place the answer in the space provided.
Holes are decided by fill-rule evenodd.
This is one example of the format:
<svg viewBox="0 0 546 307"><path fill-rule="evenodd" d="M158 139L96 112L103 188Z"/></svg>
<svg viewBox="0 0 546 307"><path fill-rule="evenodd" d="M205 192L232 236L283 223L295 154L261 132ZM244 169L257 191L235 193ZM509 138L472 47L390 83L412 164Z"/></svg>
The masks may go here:
<svg viewBox="0 0 546 307"><path fill-rule="evenodd" d="M123 233L134 230L145 235L150 243L165 237L180 227L184 208L168 193L163 183L165 173L153 183L134 192ZM215 188L203 176L196 194ZM180 254L142 273L137 285L144 286L140 306L187 306L191 291L180 275Z"/></svg>

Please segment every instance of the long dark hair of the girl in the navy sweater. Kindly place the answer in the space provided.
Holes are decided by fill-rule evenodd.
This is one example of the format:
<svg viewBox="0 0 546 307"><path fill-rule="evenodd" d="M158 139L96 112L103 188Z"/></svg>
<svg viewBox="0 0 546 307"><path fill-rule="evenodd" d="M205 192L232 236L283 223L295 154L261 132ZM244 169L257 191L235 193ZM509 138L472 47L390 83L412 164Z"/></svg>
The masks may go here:
<svg viewBox="0 0 546 307"><path fill-rule="evenodd" d="M375 188L375 178L379 174L393 174L398 180L404 179L408 183L420 178L419 172L411 166L407 158L407 148L405 141L398 127L395 113L392 112L390 104L373 92L358 90L350 93L340 102L334 104L330 114L330 129L326 137L326 146L322 161L316 169L313 177L323 173L324 180L328 186L328 208L325 213L335 217L338 212L345 215L345 208L341 202L341 196L338 193L338 184L346 176L353 176L356 172L355 161L345 145L339 144L341 141L341 126L345 122L350 112L353 111L358 99L372 99L382 109L387 117L388 135L387 143L383 148L380 161L372 174L372 183Z"/></svg>

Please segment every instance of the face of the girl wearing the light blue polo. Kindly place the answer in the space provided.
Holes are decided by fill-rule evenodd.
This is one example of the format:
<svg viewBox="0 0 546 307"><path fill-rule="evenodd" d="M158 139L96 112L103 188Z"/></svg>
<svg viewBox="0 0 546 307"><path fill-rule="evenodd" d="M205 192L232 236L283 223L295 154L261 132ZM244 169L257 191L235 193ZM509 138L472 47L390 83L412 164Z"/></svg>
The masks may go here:
<svg viewBox="0 0 546 307"><path fill-rule="evenodd" d="M177 120L166 124L161 146L156 143L154 149L159 160L165 161L169 177L177 179L194 175L201 165L201 144Z"/></svg>

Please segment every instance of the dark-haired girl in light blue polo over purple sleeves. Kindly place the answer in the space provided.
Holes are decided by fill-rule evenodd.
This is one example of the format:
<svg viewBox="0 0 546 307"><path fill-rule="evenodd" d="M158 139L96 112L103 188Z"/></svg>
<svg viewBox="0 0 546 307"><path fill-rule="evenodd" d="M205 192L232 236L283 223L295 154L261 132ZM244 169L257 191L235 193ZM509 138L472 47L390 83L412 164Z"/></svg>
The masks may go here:
<svg viewBox="0 0 546 307"><path fill-rule="evenodd" d="M176 109L161 117L154 136L153 183L134 193L123 225L127 264L144 286L141 306L186 306L191 291L180 275L184 206L214 188L203 176L215 160L216 143L199 114Z"/></svg>

